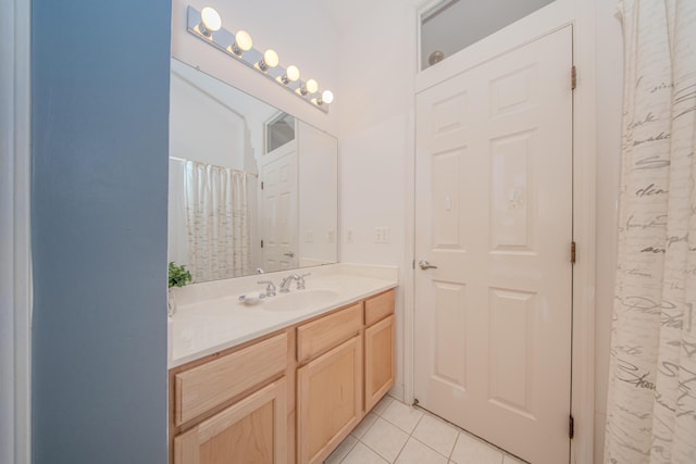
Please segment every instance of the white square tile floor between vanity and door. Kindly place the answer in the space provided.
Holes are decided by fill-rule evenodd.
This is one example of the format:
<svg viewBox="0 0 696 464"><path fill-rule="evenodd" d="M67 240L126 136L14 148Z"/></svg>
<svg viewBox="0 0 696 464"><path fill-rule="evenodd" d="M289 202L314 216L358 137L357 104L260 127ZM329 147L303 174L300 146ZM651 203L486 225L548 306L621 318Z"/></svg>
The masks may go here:
<svg viewBox="0 0 696 464"><path fill-rule="evenodd" d="M522 461L387 396L324 463L522 464Z"/></svg>

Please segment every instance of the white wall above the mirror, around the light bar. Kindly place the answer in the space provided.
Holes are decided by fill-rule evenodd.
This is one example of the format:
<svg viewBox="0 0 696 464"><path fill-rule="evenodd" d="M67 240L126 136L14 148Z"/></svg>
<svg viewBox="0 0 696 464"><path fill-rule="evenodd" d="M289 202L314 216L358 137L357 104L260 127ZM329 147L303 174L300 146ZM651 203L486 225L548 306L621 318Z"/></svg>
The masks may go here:
<svg viewBox="0 0 696 464"><path fill-rule="evenodd" d="M186 30L186 8L213 7L228 30L247 30L258 50L273 48L281 64L296 64L302 78L313 77L320 87L332 89L336 100L328 114L261 78L223 52L206 45ZM338 130L338 32L320 0L173 0L172 57L224 80L238 89L290 113L331 134Z"/></svg>

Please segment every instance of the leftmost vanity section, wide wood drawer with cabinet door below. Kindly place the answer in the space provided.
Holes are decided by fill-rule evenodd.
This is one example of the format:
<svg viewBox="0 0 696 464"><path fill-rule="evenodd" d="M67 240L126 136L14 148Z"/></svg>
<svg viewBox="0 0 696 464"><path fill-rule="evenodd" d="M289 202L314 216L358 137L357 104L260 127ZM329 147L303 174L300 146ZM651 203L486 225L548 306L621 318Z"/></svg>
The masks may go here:
<svg viewBox="0 0 696 464"><path fill-rule="evenodd" d="M170 463L295 462L295 333L170 369Z"/></svg>

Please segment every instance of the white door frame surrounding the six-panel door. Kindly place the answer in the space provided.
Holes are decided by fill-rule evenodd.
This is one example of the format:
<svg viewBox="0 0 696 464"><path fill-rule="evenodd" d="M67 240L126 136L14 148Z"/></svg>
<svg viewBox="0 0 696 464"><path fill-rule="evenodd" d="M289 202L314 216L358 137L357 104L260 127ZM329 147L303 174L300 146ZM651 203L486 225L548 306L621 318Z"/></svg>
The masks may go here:
<svg viewBox="0 0 696 464"><path fill-rule="evenodd" d="M438 0L439 1L439 0ZM420 43L420 13L415 15ZM595 5L586 0L556 0L537 12L488 36L443 61L435 67L414 70L417 93L489 59L546 36L567 25L573 27L573 63L577 86L573 93L573 240L577 261L573 266L573 322L571 366L571 414L574 438L571 463L593 462L595 436L595 253L596 253L596 88L595 88ZM513 43L514 46L510 46ZM420 55L420 50L417 51ZM483 57L483 58L482 58ZM417 60L418 62L418 60ZM569 73L570 76L570 73ZM570 85L570 83L569 83ZM415 121L412 121L415 143ZM406 199L407 256L415 262L415 151L407 156L407 175L412 196ZM407 269L403 280L405 391L407 403L414 392L414 271Z"/></svg>

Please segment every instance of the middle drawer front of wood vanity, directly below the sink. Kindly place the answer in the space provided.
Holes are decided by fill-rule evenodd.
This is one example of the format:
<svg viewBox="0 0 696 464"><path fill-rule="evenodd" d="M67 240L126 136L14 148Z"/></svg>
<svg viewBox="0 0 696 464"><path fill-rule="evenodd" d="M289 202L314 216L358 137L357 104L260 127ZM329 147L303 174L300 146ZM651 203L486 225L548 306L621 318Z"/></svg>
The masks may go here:
<svg viewBox="0 0 696 464"><path fill-rule="evenodd" d="M297 328L297 362L302 364L360 331L362 302Z"/></svg>

